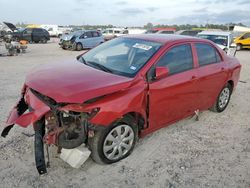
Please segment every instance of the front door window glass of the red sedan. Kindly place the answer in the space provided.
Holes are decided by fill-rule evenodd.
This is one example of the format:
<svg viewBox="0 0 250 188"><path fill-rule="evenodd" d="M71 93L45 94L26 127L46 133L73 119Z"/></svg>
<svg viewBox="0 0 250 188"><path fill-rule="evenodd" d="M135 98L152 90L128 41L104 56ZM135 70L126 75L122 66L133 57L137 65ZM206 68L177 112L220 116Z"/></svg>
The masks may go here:
<svg viewBox="0 0 250 188"><path fill-rule="evenodd" d="M171 48L157 63L157 67L166 66L169 74L176 74L193 68L192 49L189 44Z"/></svg>

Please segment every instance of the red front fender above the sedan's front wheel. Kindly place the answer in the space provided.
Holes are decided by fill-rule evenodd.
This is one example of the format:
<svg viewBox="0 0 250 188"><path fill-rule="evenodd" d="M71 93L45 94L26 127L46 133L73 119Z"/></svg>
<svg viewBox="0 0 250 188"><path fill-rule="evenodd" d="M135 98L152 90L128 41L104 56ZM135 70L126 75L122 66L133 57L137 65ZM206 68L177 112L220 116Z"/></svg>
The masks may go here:
<svg viewBox="0 0 250 188"><path fill-rule="evenodd" d="M100 110L89 120L90 123L109 126L130 112L139 113L146 120L146 96L147 84L141 79L130 88L105 96L91 104L69 104L59 110L90 112L98 108Z"/></svg>

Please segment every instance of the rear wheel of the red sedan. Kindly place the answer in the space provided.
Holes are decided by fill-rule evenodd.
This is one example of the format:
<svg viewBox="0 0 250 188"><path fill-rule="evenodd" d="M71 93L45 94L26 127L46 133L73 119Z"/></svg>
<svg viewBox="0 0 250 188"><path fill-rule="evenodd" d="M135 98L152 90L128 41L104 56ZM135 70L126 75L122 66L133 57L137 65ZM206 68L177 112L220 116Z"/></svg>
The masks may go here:
<svg viewBox="0 0 250 188"><path fill-rule="evenodd" d="M212 108L210 108L213 112L223 112L230 101L231 94L232 94L232 86L228 83L225 85L222 90L220 91L220 94L218 95L215 104Z"/></svg>

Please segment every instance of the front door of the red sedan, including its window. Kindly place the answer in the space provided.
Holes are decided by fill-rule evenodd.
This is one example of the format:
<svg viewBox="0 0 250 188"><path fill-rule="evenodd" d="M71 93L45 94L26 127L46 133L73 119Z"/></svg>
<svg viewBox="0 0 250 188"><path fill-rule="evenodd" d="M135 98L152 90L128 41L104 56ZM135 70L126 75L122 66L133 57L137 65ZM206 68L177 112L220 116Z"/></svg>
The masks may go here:
<svg viewBox="0 0 250 188"><path fill-rule="evenodd" d="M166 66L169 76L149 83L150 129L179 120L196 110L197 73L189 43L169 49L155 66Z"/></svg>

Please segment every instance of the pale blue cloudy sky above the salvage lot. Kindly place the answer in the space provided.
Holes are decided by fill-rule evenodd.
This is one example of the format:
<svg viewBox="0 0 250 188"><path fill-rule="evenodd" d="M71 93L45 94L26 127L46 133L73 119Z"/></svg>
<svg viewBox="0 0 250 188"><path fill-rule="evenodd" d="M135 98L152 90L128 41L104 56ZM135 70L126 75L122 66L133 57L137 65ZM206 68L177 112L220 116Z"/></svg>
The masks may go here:
<svg viewBox="0 0 250 188"><path fill-rule="evenodd" d="M250 26L250 0L0 0L0 22L143 26L225 24Z"/></svg>

